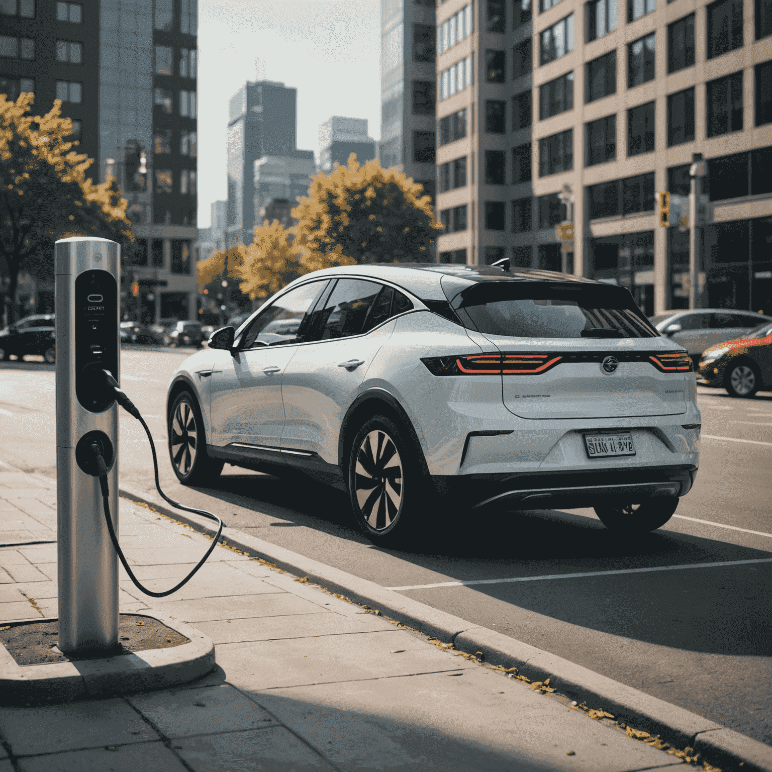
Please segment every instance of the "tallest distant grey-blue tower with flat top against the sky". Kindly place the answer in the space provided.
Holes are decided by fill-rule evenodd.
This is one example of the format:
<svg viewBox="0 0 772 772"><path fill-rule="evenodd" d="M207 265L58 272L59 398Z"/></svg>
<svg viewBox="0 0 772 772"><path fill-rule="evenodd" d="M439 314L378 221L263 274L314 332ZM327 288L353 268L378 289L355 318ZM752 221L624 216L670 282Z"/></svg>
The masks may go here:
<svg viewBox="0 0 772 772"><path fill-rule="evenodd" d="M296 147L297 89L273 80L247 81L229 103L228 242L252 242L255 162L266 156L313 158ZM306 185L306 190L308 185Z"/></svg>

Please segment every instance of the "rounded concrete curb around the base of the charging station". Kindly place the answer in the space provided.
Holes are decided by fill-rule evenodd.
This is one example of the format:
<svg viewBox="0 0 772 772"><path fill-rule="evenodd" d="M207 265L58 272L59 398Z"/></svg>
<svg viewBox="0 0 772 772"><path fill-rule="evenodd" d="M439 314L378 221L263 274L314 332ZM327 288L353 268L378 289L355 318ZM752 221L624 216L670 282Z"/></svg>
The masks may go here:
<svg viewBox="0 0 772 772"><path fill-rule="evenodd" d="M0 704L69 703L117 692L148 692L195 681L215 669L215 645L211 638L171 617L134 616L161 621L189 638L189 642L130 655L49 665L18 665L5 646L0 645ZM10 624L49 621L52 619L36 617Z"/></svg>

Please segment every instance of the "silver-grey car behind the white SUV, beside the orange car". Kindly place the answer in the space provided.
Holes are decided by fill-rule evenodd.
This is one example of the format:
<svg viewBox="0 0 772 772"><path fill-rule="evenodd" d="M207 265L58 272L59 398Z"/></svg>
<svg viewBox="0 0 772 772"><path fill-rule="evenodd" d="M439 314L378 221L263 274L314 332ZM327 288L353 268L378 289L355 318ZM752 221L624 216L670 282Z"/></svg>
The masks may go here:
<svg viewBox="0 0 772 772"><path fill-rule="evenodd" d="M772 317L751 311L721 308L669 311L649 317L657 331L689 351L689 356L695 363L707 348L724 340L747 335L765 320L772 322Z"/></svg>

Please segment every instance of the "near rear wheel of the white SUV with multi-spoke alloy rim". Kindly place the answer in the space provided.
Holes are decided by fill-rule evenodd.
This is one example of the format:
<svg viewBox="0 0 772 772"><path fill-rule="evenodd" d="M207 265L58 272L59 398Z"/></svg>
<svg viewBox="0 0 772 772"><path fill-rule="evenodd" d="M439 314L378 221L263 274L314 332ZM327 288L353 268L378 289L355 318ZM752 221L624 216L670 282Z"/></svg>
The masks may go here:
<svg viewBox="0 0 772 772"><path fill-rule="evenodd" d="M369 418L351 443L348 489L357 526L381 547L421 537L431 496L429 479L406 432L391 418Z"/></svg>

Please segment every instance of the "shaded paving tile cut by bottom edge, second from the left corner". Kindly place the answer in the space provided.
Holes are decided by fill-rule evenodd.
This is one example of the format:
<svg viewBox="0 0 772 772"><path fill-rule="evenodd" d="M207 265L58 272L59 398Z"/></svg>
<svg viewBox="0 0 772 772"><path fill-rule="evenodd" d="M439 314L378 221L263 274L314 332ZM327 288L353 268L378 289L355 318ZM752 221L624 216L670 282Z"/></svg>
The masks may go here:
<svg viewBox="0 0 772 772"><path fill-rule="evenodd" d="M319 753L283 726L180 740L180 756L195 772L334 770Z"/></svg>

